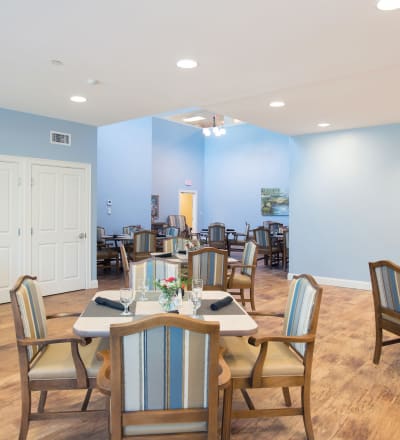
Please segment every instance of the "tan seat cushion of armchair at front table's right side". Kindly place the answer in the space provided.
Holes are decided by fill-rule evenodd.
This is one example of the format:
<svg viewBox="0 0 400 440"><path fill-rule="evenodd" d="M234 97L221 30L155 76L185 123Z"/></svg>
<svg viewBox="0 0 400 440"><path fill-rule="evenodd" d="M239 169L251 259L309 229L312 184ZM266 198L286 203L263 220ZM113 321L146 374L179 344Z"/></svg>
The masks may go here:
<svg viewBox="0 0 400 440"><path fill-rule="evenodd" d="M259 347L247 342L247 337L225 336L220 344L223 356L231 369L232 377L251 377ZM269 342L262 372L263 377L303 376L302 359L283 342Z"/></svg>

